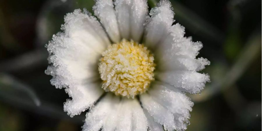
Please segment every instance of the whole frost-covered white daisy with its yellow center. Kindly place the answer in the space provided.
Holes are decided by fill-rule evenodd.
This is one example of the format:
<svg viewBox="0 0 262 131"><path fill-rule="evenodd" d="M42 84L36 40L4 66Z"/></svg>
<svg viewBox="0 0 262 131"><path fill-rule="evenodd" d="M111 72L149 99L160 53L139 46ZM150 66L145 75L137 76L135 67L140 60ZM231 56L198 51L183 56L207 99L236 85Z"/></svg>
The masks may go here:
<svg viewBox="0 0 262 131"><path fill-rule="evenodd" d="M167 0L150 16L146 0L97 0L93 10L102 24L77 9L46 45L46 74L72 98L64 111L73 117L89 109L85 131L185 130L193 106L185 93L200 93L209 81L197 72L210 64L196 58L201 42L173 24Z"/></svg>

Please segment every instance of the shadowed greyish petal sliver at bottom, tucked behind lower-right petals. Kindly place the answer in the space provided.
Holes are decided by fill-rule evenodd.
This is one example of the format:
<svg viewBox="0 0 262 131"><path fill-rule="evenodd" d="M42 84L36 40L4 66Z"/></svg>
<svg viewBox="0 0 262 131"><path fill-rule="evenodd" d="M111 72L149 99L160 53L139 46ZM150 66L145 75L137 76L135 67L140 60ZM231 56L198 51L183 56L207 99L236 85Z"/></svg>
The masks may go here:
<svg viewBox="0 0 262 131"><path fill-rule="evenodd" d="M157 122L155 122L154 118L152 116L150 116L150 114L148 114L146 109L144 109L143 111L144 111L144 114L145 114L145 116L147 118L149 131L161 131L161 130L163 130L162 125L157 123Z"/></svg>

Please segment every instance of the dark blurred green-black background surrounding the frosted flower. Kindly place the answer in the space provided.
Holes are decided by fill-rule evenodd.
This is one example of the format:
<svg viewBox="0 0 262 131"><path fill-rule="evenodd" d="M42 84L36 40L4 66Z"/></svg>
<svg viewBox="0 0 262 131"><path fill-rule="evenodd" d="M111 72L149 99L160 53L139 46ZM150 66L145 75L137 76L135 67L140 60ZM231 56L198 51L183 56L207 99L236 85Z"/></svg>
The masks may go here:
<svg viewBox="0 0 262 131"><path fill-rule="evenodd" d="M149 8L157 0L149 0ZM186 36L202 41L199 56L211 82L195 105L187 131L261 131L261 0L172 0ZM45 44L77 8L93 0L0 1L0 130L77 131L86 113L63 112L68 97L45 75ZM175 23L176 23L175 22Z"/></svg>

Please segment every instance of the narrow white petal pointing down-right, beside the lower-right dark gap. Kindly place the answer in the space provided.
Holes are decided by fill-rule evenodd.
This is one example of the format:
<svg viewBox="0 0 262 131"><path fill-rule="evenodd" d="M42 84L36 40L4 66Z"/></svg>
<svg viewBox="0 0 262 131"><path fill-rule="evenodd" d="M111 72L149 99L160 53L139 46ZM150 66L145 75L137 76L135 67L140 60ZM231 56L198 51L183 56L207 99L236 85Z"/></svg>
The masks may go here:
<svg viewBox="0 0 262 131"><path fill-rule="evenodd" d="M146 93L142 94L140 98L143 108L146 109L151 116L153 116L157 123L164 125L165 130L171 131L175 129L174 116L170 111L157 103Z"/></svg>

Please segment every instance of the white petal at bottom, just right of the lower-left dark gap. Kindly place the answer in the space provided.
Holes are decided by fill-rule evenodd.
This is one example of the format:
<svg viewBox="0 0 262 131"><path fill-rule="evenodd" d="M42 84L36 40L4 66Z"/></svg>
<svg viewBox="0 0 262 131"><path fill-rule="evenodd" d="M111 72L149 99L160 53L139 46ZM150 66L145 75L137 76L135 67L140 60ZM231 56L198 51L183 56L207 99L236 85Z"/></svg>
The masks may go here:
<svg viewBox="0 0 262 131"><path fill-rule="evenodd" d="M113 96L111 93L107 93L107 95L86 114L83 131L99 131L111 111L115 109L115 103L118 102L118 97Z"/></svg>

